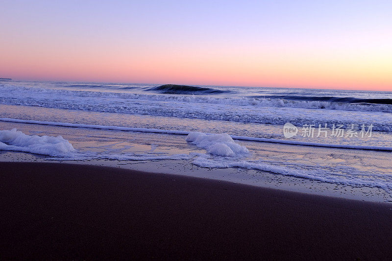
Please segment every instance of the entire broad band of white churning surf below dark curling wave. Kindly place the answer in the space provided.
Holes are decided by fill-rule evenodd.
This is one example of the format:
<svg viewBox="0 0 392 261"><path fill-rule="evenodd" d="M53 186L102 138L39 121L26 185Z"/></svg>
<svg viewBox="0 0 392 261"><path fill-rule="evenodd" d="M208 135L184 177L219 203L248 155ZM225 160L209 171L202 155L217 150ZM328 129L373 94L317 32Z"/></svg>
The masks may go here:
<svg viewBox="0 0 392 261"><path fill-rule="evenodd" d="M306 106L292 106L296 102L303 103ZM376 106L374 107L360 104L331 103L328 107L324 103L238 96L151 95L14 86L0 88L0 104L234 122L272 124L291 122L296 126L304 124L318 126L325 123L329 126L332 124L347 126L352 123L359 125L373 124L373 131L392 132L391 115L386 114L385 110L374 109L377 106L390 106L392 112L392 105L374 105ZM310 104L313 105L308 106ZM322 104L320 108L324 109L319 110L315 104ZM352 110L355 112L348 113L346 111L347 106L362 106L368 108L364 109L368 112L364 114L360 112L362 107L358 107L358 110ZM288 110L286 107L296 107L297 109ZM4 117L7 117L7 115L4 115Z"/></svg>

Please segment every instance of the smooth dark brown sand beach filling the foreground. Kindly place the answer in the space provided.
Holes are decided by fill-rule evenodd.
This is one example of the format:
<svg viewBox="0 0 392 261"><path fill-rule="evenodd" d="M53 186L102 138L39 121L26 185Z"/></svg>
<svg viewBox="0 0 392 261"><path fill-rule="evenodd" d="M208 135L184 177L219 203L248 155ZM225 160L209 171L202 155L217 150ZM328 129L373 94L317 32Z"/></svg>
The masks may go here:
<svg viewBox="0 0 392 261"><path fill-rule="evenodd" d="M1 260L392 258L391 204L113 167L0 169Z"/></svg>

